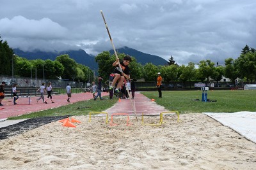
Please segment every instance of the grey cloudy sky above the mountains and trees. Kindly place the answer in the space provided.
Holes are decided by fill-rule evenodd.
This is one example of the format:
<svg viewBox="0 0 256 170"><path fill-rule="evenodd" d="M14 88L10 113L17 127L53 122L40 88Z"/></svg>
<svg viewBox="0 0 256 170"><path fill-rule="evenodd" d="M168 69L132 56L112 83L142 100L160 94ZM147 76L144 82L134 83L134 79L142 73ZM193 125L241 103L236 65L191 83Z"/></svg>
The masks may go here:
<svg viewBox="0 0 256 170"><path fill-rule="evenodd" d="M0 36L24 51L128 46L178 64L236 59L256 48L255 0L0 0Z"/></svg>

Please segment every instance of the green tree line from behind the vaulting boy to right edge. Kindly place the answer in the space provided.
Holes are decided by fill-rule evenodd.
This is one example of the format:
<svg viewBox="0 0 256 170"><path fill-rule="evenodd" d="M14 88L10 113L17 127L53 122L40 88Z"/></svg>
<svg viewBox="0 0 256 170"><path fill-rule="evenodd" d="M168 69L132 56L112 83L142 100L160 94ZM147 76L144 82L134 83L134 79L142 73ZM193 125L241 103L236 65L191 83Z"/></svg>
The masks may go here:
<svg viewBox="0 0 256 170"><path fill-rule="evenodd" d="M118 53L120 60L124 56L124 53ZM95 57L99 64L99 74L105 80L108 80L109 74L113 72L112 63L115 59L115 55L111 55L109 52L99 53ZM195 67L196 65L198 65L198 68ZM144 79L145 81L156 81L157 73L161 72L161 76L166 82L182 81L184 84L189 82L189 85L191 85L191 81L209 83L210 79L218 83L223 76L229 78L232 83L235 83L237 78L244 82L253 83L256 80L256 52L254 48L246 45L237 59L225 59L225 65L223 66L218 63L215 64L209 59L200 60L197 64L189 62L187 66L184 64L179 66L175 64L175 60L171 56L167 66L156 66L152 63L142 66L132 57L130 67L131 78Z"/></svg>

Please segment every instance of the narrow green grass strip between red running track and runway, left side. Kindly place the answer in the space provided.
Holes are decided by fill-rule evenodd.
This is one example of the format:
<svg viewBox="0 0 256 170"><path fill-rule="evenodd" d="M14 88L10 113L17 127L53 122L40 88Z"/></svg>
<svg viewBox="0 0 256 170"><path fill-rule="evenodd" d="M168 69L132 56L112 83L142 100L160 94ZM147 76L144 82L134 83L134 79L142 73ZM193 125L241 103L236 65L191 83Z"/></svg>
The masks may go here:
<svg viewBox="0 0 256 170"><path fill-rule="evenodd" d="M93 101L79 101L77 103L68 104L59 108L52 108L38 112L29 113L27 115L20 115L19 117L10 117L9 120L22 119L22 118L36 118L36 117L52 117L63 115L88 115L90 111L103 111L113 106L118 99L109 100L109 97L103 97L104 100ZM106 99L108 98L108 99Z"/></svg>

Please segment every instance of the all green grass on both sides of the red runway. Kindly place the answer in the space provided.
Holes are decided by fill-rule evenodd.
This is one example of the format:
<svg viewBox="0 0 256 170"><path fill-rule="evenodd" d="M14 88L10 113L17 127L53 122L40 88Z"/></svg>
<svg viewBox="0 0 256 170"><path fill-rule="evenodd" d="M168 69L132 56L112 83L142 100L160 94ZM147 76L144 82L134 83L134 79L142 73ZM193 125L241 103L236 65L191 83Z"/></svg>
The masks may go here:
<svg viewBox="0 0 256 170"><path fill-rule="evenodd" d="M163 98L158 97L157 91L141 92L141 94L149 99L156 99L156 103L167 110L180 113L256 111L256 90L210 90L207 94L208 99L216 102L202 102L202 91L199 90L163 91ZM60 116L64 113L70 116L87 115L90 111L106 110L117 101L118 99L104 100L100 104L93 100L81 101L9 119Z"/></svg>

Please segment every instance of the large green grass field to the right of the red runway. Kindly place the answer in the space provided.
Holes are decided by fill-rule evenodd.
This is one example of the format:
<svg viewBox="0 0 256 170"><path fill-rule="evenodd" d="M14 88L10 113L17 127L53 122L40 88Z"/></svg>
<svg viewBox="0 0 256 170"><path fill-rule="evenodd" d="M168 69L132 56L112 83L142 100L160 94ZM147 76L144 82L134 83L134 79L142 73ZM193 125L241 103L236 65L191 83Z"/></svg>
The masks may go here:
<svg viewBox="0 0 256 170"><path fill-rule="evenodd" d="M210 90L207 98L216 102L202 102L202 91L141 92L170 111L180 113L256 111L256 90ZM195 101L200 99L200 101Z"/></svg>

